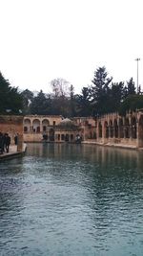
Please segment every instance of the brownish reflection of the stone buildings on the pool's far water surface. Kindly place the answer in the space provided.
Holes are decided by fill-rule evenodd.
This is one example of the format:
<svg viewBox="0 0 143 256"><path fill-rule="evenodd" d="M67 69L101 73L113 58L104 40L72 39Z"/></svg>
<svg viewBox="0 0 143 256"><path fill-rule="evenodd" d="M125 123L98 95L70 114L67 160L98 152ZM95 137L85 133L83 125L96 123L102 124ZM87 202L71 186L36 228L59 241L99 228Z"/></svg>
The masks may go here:
<svg viewBox="0 0 143 256"><path fill-rule="evenodd" d="M97 162L100 166L113 165L128 168L140 168L143 163L143 152L129 149L100 147L95 145L70 144L29 144L29 155L49 157L56 160L72 158Z"/></svg>

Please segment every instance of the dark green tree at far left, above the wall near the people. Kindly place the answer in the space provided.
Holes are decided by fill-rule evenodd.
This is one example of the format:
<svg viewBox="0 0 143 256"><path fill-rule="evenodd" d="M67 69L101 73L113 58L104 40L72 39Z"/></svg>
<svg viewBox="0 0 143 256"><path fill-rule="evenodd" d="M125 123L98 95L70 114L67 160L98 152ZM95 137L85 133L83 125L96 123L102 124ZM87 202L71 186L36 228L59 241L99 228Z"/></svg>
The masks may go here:
<svg viewBox="0 0 143 256"><path fill-rule="evenodd" d="M22 96L17 87L11 87L0 72L0 113L20 114L22 111Z"/></svg>

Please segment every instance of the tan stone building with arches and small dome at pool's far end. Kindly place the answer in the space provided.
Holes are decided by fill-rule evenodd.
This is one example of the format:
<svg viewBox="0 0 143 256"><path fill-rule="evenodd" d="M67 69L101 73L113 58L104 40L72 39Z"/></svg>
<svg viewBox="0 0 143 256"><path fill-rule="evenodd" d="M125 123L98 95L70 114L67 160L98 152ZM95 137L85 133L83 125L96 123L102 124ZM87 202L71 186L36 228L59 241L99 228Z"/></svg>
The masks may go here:
<svg viewBox="0 0 143 256"><path fill-rule="evenodd" d="M76 142L92 133L92 118L63 118L62 116L30 115L24 117L25 142ZM90 131L89 131L90 130ZM90 133L90 136L92 136Z"/></svg>

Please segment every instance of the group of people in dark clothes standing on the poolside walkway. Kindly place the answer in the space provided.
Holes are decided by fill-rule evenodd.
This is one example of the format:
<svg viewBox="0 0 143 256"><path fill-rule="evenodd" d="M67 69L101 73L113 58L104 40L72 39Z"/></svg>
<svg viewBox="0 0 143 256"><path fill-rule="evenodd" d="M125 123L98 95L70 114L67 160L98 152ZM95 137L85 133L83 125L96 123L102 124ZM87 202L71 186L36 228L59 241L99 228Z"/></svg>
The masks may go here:
<svg viewBox="0 0 143 256"><path fill-rule="evenodd" d="M9 152L10 136L9 133L0 132L0 154Z"/></svg>

